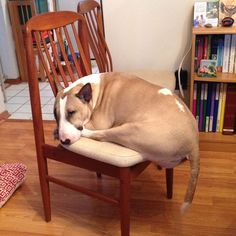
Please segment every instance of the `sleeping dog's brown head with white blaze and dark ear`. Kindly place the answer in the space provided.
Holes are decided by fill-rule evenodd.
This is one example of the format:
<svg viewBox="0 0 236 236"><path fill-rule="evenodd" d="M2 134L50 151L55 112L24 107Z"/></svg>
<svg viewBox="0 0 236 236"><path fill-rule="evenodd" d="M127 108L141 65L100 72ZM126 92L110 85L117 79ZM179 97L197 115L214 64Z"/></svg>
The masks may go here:
<svg viewBox="0 0 236 236"><path fill-rule="evenodd" d="M78 84L70 90L58 92L54 104L54 116L57 128L55 138L69 145L77 141L84 125L92 114L92 87L90 83Z"/></svg>

